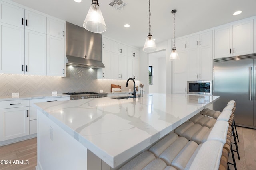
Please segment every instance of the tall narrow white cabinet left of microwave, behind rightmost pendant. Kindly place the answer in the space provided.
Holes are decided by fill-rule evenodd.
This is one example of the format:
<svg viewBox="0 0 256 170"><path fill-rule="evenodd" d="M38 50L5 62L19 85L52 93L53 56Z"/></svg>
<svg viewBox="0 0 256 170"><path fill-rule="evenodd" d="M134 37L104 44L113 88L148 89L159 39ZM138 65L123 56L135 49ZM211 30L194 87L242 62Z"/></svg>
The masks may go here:
<svg viewBox="0 0 256 170"><path fill-rule="evenodd" d="M179 60L172 62L172 92L186 94L187 88L187 38L175 40Z"/></svg>

